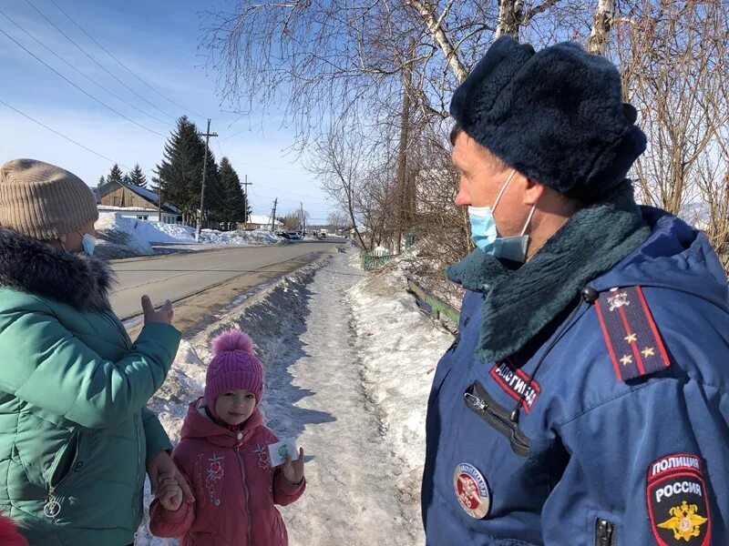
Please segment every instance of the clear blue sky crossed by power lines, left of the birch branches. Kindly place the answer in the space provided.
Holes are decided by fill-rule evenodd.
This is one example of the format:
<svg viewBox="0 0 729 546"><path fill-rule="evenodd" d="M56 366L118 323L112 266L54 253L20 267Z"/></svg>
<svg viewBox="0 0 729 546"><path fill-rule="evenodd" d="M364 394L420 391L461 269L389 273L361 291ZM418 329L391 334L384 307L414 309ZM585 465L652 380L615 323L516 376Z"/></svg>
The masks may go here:
<svg viewBox="0 0 729 546"><path fill-rule="evenodd" d="M148 178L161 160L164 143L175 118L188 114L202 130L206 118L210 117L212 131L220 135L210 139L210 147L218 160L223 155L231 159L241 179L248 175L253 184L249 192L254 214L270 214L273 197L279 197L279 210L283 214L299 207L299 202L303 201L313 221L325 221L332 204L317 187L314 177L286 154L286 148L293 144L293 133L280 128L281 117L264 118L260 112L254 112L250 118L239 118L224 112L227 106L221 106L216 95L217 75L207 73L203 66L207 52L198 47L201 11L212 6L230 7L231 1L55 0L77 25L167 98L118 65L51 0L29 2L36 6L37 11L26 0L0 0L0 31L12 36L47 65L119 114L161 136L99 105L43 66L2 32L0 101L113 162L126 167L139 163ZM57 56L132 106L79 75L3 14L11 17ZM108 72L69 42L43 15ZM262 125L265 130L262 130ZM0 127L0 163L15 157L34 157L67 168L82 177L89 186L96 186L98 178L106 175L113 165L108 159L68 142L3 104L0 104Z"/></svg>

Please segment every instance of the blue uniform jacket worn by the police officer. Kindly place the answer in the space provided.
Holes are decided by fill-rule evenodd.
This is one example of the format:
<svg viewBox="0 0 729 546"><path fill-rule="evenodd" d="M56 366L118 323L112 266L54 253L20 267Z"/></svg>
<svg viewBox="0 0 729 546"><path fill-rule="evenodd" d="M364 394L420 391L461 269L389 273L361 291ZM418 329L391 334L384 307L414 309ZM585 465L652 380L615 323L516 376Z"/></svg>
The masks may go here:
<svg viewBox="0 0 729 546"><path fill-rule="evenodd" d="M703 234L668 215L651 223L589 286L603 297L642 288L646 307L629 305L650 309L657 331L636 346L661 358L650 343L660 338L668 367L619 379L624 356L616 366L587 301L528 354L484 363L474 351L485 295L467 292L428 401L427 544L729 544L726 277Z"/></svg>

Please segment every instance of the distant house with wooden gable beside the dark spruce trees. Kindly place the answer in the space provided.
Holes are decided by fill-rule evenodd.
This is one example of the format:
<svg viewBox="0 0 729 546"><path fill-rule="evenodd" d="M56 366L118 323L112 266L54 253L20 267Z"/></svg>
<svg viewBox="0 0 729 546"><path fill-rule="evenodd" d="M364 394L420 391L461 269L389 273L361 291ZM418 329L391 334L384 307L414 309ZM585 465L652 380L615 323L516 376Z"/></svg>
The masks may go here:
<svg viewBox="0 0 729 546"><path fill-rule="evenodd" d="M182 223L180 209L169 203L160 203L158 207L157 193L146 187L124 182L110 182L98 187L98 194L100 197L99 212L118 212L122 217L162 222L163 224Z"/></svg>

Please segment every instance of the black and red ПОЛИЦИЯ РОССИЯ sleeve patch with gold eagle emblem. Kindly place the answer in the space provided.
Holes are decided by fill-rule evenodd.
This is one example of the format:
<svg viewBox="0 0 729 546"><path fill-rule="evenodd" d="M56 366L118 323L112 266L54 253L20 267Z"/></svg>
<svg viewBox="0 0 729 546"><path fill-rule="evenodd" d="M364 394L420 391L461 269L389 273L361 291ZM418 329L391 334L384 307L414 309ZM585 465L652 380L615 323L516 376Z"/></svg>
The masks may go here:
<svg viewBox="0 0 729 546"><path fill-rule="evenodd" d="M651 530L660 546L709 546L712 521L698 457L674 453L653 461L646 501Z"/></svg>

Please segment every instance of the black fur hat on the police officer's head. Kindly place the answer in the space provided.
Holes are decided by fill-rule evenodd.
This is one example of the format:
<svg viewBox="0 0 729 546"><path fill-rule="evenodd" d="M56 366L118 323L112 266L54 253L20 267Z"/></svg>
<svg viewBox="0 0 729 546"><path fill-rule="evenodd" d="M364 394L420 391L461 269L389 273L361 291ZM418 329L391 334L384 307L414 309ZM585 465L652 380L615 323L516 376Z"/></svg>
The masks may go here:
<svg viewBox="0 0 729 546"><path fill-rule="evenodd" d="M498 38L456 89L450 113L508 165L582 202L618 186L646 146L617 68L576 44L535 53Z"/></svg>

